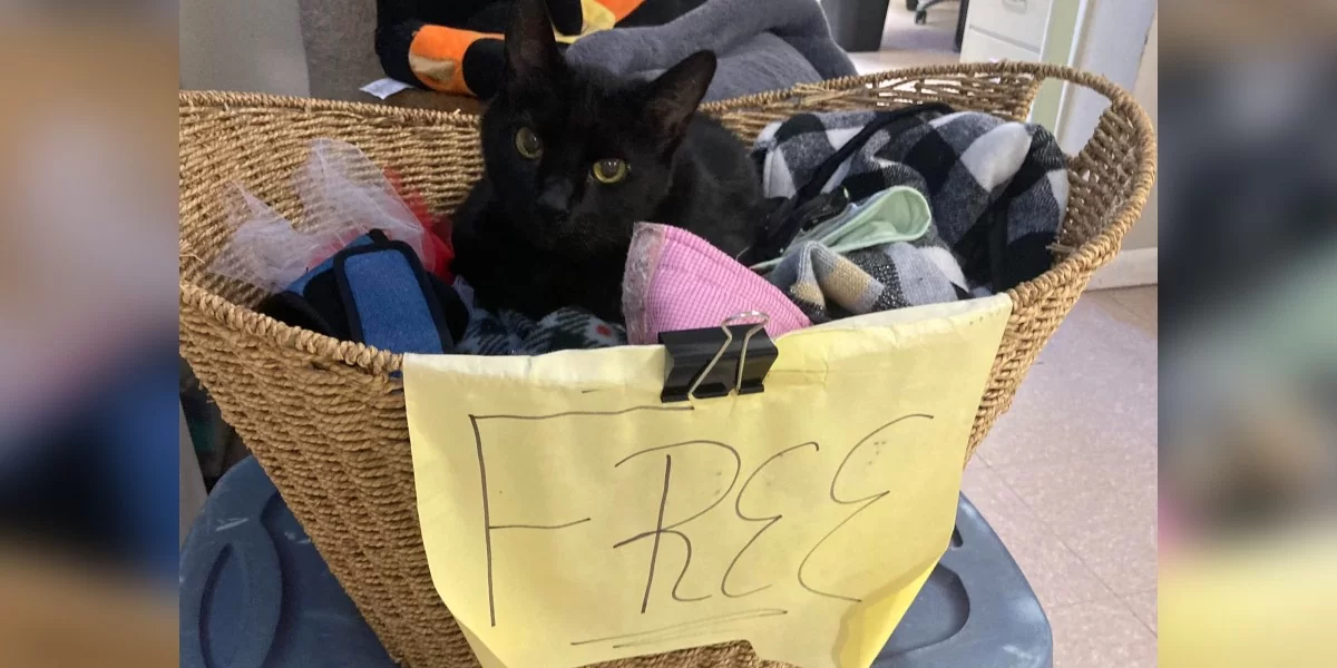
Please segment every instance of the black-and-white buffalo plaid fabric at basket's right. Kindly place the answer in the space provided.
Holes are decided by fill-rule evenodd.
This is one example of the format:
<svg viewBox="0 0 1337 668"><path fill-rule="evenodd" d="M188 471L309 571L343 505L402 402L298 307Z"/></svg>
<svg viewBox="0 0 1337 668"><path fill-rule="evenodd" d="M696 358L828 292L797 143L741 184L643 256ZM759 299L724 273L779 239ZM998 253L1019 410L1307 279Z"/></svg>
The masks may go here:
<svg viewBox="0 0 1337 668"><path fill-rule="evenodd" d="M885 112L800 114L767 126L753 150L765 195L794 195L877 114ZM919 188L968 287L1001 291L1051 265L1048 246L1068 203L1064 160L1038 124L924 111L876 132L824 191L844 187L856 202L892 186Z"/></svg>

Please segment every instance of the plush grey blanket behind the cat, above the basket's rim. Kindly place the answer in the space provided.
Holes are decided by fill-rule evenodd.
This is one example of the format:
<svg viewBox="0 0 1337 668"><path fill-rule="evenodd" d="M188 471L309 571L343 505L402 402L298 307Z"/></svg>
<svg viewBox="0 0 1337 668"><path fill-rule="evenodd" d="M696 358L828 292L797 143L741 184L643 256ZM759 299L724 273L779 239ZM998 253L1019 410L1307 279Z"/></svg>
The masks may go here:
<svg viewBox="0 0 1337 668"><path fill-rule="evenodd" d="M567 61L650 79L697 51L719 61L706 100L854 73L813 0L707 0L663 25L587 35Z"/></svg>

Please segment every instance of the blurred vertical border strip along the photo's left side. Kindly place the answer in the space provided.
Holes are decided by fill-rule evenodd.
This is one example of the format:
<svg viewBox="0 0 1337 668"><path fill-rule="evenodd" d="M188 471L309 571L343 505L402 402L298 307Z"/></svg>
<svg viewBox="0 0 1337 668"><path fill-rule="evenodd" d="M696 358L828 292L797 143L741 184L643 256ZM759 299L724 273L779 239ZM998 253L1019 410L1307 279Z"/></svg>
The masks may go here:
<svg viewBox="0 0 1337 668"><path fill-rule="evenodd" d="M0 665L176 664L175 25L0 1Z"/></svg>

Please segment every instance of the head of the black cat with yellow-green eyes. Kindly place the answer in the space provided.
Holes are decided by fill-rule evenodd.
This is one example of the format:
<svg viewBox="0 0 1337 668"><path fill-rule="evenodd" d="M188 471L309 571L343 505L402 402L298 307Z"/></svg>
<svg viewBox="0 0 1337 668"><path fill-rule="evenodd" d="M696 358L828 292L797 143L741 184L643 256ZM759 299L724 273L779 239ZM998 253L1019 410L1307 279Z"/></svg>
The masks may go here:
<svg viewBox="0 0 1337 668"><path fill-rule="evenodd" d="M543 0L523 0L483 116L483 155L511 224L572 258L626 250L668 191L674 154L714 75L697 53L650 83L572 71Z"/></svg>

